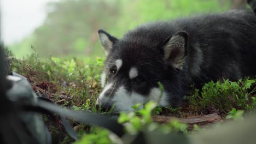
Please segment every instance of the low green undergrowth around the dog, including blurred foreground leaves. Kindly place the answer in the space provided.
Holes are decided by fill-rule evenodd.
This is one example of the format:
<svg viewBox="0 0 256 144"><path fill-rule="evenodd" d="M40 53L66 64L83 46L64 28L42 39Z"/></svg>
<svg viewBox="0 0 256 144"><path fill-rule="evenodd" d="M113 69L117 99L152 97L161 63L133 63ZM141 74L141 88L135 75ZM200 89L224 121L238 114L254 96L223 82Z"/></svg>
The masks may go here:
<svg viewBox="0 0 256 144"><path fill-rule="evenodd" d="M56 104L71 107L74 110L97 112L96 98L101 92L100 74L103 70L103 58L88 59L49 57L40 59L37 53L16 59L8 52L10 70L15 71L31 82L35 91L49 97ZM161 88L161 85L159 85ZM255 109L255 79L245 78L236 82L220 80L206 83L202 89L194 89L187 95L185 105L173 107L159 107L150 101L143 109L141 104L132 108L135 111L120 113L119 123L123 123L126 133L135 135L139 131L158 130L162 133L176 131L188 134L188 125L173 120L166 124L153 122L152 115L172 115L176 117L206 115L218 113L223 118L241 117L246 112ZM187 114L189 113L189 115ZM44 117L54 143L71 143L73 140L63 132L62 124L54 124L48 117ZM70 121L74 129L79 131L81 139L75 143L112 143L109 131L98 127L90 127ZM199 129L195 125L194 129Z"/></svg>

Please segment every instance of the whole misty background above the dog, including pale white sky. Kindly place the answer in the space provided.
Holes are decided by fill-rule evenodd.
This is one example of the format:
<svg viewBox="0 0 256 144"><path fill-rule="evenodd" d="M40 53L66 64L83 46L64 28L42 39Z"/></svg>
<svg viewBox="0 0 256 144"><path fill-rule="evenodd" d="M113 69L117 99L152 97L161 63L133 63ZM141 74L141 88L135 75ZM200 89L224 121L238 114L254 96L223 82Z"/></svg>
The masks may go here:
<svg viewBox="0 0 256 144"><path fill-rule="evenodd" d="M98 29L121 36L145 22L245 7L243 0L2 0L1 37L18 58L104 56Z"/></svg>

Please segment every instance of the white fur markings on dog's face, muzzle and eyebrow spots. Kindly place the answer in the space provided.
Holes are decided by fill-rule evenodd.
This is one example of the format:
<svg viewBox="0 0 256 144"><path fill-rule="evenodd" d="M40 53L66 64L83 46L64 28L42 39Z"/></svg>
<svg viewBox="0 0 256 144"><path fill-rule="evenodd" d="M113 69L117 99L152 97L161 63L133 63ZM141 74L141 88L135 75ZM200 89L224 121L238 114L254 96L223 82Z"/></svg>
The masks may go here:
<svg viewBox="0 0 256 144"><path fill-rule="evenodd" d="M117 61L115 61L115 65L117 66L117 70L119 70L123 65L123 61L121 59L117 59ZM138 76L138 70L135 67L132 67L129 71L130 79L134 79L137 76ZM106 83L106 73L103 72L101 74L101 85L102 87L104 87L104 89L101 92L100 96L98 97L96 104L104 105L104 103L107 103L109 100L111 100L113 102L113 105L115 105L115 108L114 108L115 112L132 111L133 109L131 106L137 103L140 103L141 106L139 108L142 108L143 104L147 103L149 100L153 100L156 102L159 101L160 106L168 105L166 101L167 94L165 92L162 93L162 97L160 99L161 90L159 88L154 87L150 89L149 95L141 95L136 93L135 91L128 92L124 86L119 86L117 91L115 91L114 93L112 92L110 93L110 95L113 95L110 98L110 95L106 95L105 93L109 89L113 90L115 88L115 85L113 85L113 83L107 83L107 85L105 86L105 83Z"/></svg>

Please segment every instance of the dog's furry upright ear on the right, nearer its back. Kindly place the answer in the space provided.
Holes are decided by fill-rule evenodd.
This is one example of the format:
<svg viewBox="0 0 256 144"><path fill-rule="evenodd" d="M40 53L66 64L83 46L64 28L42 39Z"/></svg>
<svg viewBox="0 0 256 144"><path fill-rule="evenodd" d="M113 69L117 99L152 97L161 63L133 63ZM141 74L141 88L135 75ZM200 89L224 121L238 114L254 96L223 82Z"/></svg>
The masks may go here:
<svg viewBox="0 0 256 144"><path fill-rule="evenodd" d="M167 39L164 46L164 59L168 64L181 69L184 63L185 50L188 43L188 33L178 32Z"/></svg>

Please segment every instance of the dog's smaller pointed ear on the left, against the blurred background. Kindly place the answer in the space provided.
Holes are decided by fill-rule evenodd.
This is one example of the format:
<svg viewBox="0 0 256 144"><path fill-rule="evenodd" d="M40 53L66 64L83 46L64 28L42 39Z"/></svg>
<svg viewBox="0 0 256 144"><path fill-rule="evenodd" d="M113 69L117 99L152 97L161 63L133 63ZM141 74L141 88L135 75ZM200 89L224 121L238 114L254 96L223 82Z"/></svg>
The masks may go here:
<svg viewBox="0 0 256 144"><path fill-rule="evenodd" d="M117 42L117 38L112 37L107 32L103 31L102 29L98 30L98 35L100 36L101 44L105 50L106 55L110 52L113 48L113 44Z"/></svg>

